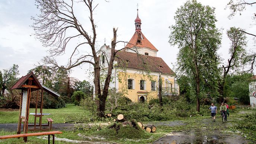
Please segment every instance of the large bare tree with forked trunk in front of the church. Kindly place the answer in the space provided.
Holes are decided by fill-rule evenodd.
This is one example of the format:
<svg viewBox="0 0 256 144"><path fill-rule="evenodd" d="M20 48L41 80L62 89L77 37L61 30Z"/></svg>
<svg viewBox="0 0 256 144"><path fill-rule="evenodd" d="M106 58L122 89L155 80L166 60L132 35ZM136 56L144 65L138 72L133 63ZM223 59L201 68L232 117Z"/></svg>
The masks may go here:
<svg viewBox="0 0 256 144"><path fill-rule="evenodd" d="M36 38L40 39L45 47L49 47L49 56L44 63L56 71L58 68L57 56L64 54L65 50L72 49L66 70L89 63L93 66L95 95L97 103L97 115L103 117L105 103L108 96L109 83L113 69L113 61L116 55L116 31L113 28L111 42L111 55L108 61L108 70L103 87L100 87L100 55L96 49L96 25L93 12L98 4L93 0L35 0L40 10L39 15L32 17L32 25ZM89 19L80 23L77 9L83 7L84 13L88 13ZM76 13L77 12L77 13ZM86 14L83 14L85 17ZM88 25L89 23L89 25ZM72 43L73 42L73 43ZM74 45L74 43L76 45Z"/></svg>

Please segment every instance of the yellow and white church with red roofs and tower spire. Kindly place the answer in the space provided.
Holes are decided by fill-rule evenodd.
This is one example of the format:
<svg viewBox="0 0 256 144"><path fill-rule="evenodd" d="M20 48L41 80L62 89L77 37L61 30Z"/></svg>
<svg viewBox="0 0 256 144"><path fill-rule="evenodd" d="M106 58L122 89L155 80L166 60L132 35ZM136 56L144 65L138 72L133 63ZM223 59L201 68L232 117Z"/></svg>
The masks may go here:
<svg viewBox="0 0 256 144"><path fill-rule="evenodd" d="M107 61L111 48L104 44L100 48L101 75L108 68ZM159 94L159 77L161 77L162 96L179 95L179 86L175 73L157 57L158 49L151 44L141 31L141 19L135 19L135 33L125 48L116 53L112 79L109 88L124 93L132 102L146 102L157 98Z"/></svg>

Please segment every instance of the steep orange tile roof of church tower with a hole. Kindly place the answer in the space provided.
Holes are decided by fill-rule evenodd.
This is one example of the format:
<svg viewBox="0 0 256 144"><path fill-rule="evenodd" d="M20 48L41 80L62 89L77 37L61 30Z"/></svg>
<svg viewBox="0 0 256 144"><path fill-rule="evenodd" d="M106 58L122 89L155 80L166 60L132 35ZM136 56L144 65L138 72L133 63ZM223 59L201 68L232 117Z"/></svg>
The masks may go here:
<svg viewBox="0 0 256 144"><path fill-rule="evenodd" d="M132 47L140 47L140 48L150 48L154 51L158 51L154 45L152 45L148 39L143 35L141 31L135 31L129 43L125 46L125 48Z"/></svg>

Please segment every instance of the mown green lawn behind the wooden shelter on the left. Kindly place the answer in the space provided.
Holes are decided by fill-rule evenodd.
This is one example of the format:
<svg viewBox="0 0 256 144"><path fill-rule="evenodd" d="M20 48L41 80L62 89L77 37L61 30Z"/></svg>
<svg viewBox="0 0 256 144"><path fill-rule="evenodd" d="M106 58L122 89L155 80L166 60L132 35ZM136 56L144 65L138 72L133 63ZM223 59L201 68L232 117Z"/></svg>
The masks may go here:
<svg viewBox="0 0 256 144"><path fill-rule="evenodd" d="M43 116L42 123L47 123L47 118L52 118L54 123L74 122L79 118L89 115L89 112L80 109L79 106L74 104L66 104L66 108L60 109L43 109L43 113L51 113L51 115ZM40 112L40 109L37 109ZM30 108L29 113L35 113L35 108ZM0 124L18 123L19 110L17 111L0 111ZM39 121L39 118L36 118ZM29 115L29 123L34 122L34 116Z"/></svg>

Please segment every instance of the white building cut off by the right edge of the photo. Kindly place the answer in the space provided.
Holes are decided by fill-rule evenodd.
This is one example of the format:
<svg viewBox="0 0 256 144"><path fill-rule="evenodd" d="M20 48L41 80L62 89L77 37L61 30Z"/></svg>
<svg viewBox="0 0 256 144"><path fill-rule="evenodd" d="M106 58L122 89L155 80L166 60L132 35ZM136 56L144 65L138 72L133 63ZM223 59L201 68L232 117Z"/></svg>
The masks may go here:
<svg viewBox="0 0 256 144"><path fill-rule="evenodd" d="M250 78L251 82L249 83L249 97L250 105L256 107L256 75Z"/></svg>

